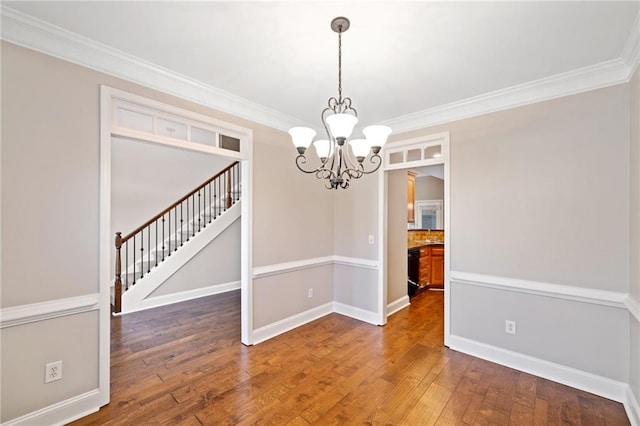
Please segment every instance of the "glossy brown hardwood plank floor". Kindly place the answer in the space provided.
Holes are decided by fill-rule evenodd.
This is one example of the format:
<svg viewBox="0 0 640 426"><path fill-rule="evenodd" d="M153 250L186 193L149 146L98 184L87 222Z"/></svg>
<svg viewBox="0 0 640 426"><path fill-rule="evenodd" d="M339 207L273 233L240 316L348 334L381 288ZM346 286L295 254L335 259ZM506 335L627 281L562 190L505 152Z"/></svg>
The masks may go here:
<svg viewBox="0 0 640 426"><path fill-rule="evenodd" d="M443 347L443 292L240 343L238 291L112 320L111 403L73 425L628 425L621 404Z"/></svg>

